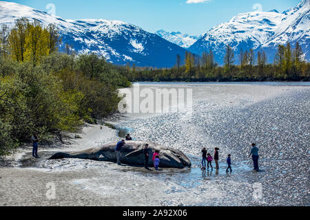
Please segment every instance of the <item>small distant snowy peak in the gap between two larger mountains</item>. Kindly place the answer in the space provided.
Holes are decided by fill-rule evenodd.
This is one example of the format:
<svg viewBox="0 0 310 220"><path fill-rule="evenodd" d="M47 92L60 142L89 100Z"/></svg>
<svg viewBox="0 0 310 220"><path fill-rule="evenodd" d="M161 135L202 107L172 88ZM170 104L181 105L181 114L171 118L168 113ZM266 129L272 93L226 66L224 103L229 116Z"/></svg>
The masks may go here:
<svg viewBox="0 0 310 220"><path fill-rule="evenodd" d="M184 48L192 46L200 38L200 36L191 36L189 34L182 34L181 32L166 32L165 30L158 30L155 34Z"/></svg>

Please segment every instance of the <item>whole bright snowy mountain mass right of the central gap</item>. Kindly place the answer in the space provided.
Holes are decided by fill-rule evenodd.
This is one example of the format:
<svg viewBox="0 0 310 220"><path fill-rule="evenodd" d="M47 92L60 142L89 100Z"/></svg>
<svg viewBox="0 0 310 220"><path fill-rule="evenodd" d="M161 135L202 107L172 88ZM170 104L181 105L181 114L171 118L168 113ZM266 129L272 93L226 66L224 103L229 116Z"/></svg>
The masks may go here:
<svg viewBox="0 0 310 220"><path fill-rule="evenodd" d="M225 47L229 44L235 50L236 62L241 48L253 48L255 52L265 50L268 61L272 62L278 44L290 42L295 45L298 41L309 61L309 10L310 0L302 0L296 8L282 14L276 10L241 13L227 23L216 25L189 47L189 50L196 54L212 50L216 61L223 64Z"/></svg>

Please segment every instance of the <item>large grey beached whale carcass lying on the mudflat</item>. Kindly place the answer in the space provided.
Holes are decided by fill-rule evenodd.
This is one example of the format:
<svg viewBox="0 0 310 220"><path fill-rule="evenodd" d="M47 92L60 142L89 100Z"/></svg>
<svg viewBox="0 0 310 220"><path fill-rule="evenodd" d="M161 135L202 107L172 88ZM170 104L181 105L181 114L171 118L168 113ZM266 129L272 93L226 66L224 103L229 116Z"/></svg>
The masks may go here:
<svg viewBox="0 0 310 220"><path fill-rule="evenodd" d="M117 142L114 142L98 148L90 148L74 153L56 153L50 159L79 158L116 162L116 144ZM149 166L153 166L152 156L155 150L160 151L160 167L185 168L192 166L188 157L181 151L152 142L142 141L126 141L125 146L121 150L121 162L130 165L144 165L143 148L145 144L149 144Z"/></svg>

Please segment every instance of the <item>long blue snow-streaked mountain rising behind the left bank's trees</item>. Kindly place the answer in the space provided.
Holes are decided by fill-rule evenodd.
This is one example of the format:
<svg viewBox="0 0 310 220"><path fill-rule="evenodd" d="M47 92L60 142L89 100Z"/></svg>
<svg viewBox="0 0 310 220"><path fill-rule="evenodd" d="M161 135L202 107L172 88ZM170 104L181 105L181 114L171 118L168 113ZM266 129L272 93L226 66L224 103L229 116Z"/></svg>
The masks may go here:
<svg viewBox="0 0 310 220"><path fill-rule="evenodd" d="M0 24L10 26L15 19L26 17L43 25L59 26L64 50L65 43L79 53L103 55L117 65L135 63L137 66L172 67L176 56L185 56L186 50L136 25L104 19L65 20L25 5L0 1Z"/></svg>

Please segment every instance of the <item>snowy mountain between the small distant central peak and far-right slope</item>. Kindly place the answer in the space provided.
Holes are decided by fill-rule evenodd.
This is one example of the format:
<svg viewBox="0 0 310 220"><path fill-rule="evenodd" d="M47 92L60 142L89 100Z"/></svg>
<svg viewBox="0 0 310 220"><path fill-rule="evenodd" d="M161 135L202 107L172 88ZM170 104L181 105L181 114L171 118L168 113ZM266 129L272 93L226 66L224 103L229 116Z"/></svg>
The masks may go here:
<svg viewBox="0 0 310 220"><path fill-rule="evenodd" d="M241 48L255 50L275 34L281 20L282 14L276 12L241 13L227 23L216 25L189 50L196 54L212 50L216 61L223 64L226 45L233 47L236 52Z"/></svg>

